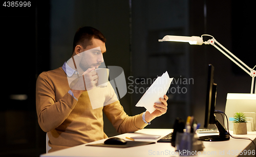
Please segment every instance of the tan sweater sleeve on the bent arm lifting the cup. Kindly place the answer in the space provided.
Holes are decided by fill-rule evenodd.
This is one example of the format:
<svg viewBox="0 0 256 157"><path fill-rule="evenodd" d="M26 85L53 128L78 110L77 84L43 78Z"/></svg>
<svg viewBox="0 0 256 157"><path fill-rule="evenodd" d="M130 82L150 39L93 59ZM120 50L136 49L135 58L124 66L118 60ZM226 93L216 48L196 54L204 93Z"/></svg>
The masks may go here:
<svg viewBox="0 0 256 157"><path fill-rule="evenodd" d="M77 103L68 92L56 102L54 90L47 73L41 73L36 81L36 112L39 126L45 132L65 121Z"/></svg>

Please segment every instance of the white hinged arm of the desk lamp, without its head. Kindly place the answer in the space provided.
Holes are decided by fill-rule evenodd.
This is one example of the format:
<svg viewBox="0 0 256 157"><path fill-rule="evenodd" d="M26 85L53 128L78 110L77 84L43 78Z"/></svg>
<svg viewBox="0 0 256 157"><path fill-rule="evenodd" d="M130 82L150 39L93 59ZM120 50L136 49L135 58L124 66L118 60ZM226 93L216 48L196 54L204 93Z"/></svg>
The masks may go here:
<svg viewBox="0 0 256 157"><path fill-rule="evenodd" d="M203 35L202 35L203 36ZM212 36L211 36L212 37ZM227 58L229 58L230 60L232 60L234 63L236 63L242 70L244 70L247 74L249 74L252 77L252 81L251 81L251 94L253 93L253 87L254 87L254 77L256 76L256 71L251 69L248 65L246 65L243 61L241 61L237 56L233 55L230 51L228 51L225 47L222 46L222 44L220 44L215 38L209 39L208 41L204 41L204 44L211 44L212 46L214 46L216 49L218 49L222 54L224 54ZM233 58L231 58L229 55L227 55L223 50L221 50L218 46L216 46L216 44L218 44L218 46L220 46L223 50L225 50L229 55L231 55L234 59L236 59L237 61L239 61L242 65L245 66L245 68L247 68L247 70L240 64L238 63L236 60L234 60ZM248 71L249 70L249 71ZM256 87L255 87L255 91L254 94L256 94Z"/></svg>

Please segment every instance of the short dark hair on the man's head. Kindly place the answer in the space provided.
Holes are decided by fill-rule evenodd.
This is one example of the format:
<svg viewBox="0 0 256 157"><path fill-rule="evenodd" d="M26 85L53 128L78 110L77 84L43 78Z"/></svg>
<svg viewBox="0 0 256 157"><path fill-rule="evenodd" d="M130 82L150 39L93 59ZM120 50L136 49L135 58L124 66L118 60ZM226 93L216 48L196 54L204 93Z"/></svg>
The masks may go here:
<svg viewBox="0 0 256 157"><path fill-rule="evenodd" d="M76 31L74 41L73 41L73 52L76 48L76 46L79 44L84 49L86 49L87 46L92 45L92 38L100 39L102 42L106 42L106 38L103 36L103 34L92 27L81 27ZM72 54L73 54L72 52Z"/></svg>

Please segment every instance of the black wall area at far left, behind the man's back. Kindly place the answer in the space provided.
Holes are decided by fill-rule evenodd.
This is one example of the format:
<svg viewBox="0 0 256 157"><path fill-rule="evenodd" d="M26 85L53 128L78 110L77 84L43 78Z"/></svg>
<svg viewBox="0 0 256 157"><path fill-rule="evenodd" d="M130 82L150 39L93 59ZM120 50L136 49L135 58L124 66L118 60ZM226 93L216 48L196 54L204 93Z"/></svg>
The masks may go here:
<svg viewBox="0 0 256 157"><path fill-rule="evenodd" d="M39 156L45 133L35 110L35 81L50 68L49 1L30 7L1 3L3 103L0 108L0 156Z"/></svg>

